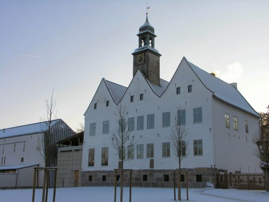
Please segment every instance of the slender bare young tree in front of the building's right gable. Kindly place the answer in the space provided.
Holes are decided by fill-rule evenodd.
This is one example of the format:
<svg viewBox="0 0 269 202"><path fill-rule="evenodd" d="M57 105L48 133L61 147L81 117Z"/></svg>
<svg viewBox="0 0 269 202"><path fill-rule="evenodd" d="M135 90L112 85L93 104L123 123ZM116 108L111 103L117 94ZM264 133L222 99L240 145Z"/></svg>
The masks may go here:
<svg viewBox="0 0 269 202"><path fill-rule="evenodd" d="M183 112L183 114L179 114L181 111ZM182 160L187 158L187 155L189 154L188 149L187 149L189 142L186 141L188 132L185 126L185 122L186 122L186 120L184 119L185 111L183 110L181 111L180 111L180 108L178 108L178 115L174 117L174 122L173 122L172 132L171 132L172 147L177 157L177 160L179 161L179 169L181 169Z"/></svg>

